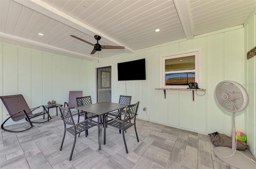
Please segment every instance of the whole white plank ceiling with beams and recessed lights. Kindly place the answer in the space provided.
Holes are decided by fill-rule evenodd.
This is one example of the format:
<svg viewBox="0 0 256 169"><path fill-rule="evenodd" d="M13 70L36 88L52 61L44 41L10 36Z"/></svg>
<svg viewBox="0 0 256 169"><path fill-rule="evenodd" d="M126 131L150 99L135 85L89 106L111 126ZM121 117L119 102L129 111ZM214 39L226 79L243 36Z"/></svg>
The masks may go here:
<svg viewBox="0 0 256 169"><path fill-rule="evenodd" d="M255 9L256 0L0 0L0 42L92 61L242 25ZM70 35L124 49L90 54Z"/></svg>

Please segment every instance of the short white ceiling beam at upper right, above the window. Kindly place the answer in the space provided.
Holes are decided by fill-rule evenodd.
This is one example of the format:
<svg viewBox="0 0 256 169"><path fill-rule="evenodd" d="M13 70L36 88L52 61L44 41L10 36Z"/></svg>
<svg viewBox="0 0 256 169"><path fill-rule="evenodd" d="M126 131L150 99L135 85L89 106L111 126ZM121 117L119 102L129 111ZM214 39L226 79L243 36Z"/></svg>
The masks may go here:
<svg viewBox="0 0 256 169"><path fill-rule="evenodd" d="M193 39L194 35L192 32L190 13L188 9L188 1L187 0L173 0L176 10L178 12L178 16L180 18L180 22L182 28L184 30L186 39Z"/></svg>

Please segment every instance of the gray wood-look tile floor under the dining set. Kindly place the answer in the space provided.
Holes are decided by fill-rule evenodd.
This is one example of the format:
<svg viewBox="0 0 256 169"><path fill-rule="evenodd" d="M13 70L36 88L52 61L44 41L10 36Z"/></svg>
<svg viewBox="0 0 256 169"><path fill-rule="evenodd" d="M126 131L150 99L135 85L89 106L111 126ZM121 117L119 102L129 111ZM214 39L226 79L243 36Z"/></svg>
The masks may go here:
<svg viewBox="0 0 256 169"><path fill-rule="evenodd" d="M82 133L77 138L72 160L69 161L74 137L67 133L62 151L59 151L64 126L60 116L52 117L49 122L35 124L35 127L21 133L0 129L0 168L235 169L215 157L215 146L208 135L140 119L136 121L139 143L134 127L125 133L128 154L122 134L113 127L107 128L106 145L102 145L99 151L97 127L93 127L88 137ZM74 119L76 121L77 117ZM253 158L250 151L245 151L245 154Z"/></svg>

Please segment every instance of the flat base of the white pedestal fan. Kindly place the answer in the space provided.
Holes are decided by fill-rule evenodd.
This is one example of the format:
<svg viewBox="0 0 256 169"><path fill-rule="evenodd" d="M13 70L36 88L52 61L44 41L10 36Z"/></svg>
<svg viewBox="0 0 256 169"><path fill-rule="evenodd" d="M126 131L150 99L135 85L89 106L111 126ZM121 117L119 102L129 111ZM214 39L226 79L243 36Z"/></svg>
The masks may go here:
<svg viewBox="0 0 256 169"><path fill-rule="evenodd" d="M224 149L222 149L224 148ZM221 149L221 150L220 150ZM218 153L217 153L218 151ZM228 147L215 147L214 153L216 157L224 161L225 163L228 163L229 165L232 165L238 169L256 169L256 163L251 161L250 159L244 157L244 155L236 152L234 155L232 155L232 149ZM230 156L231 157L227 157ZM226 157L226 158L222 158Z"/></svg>

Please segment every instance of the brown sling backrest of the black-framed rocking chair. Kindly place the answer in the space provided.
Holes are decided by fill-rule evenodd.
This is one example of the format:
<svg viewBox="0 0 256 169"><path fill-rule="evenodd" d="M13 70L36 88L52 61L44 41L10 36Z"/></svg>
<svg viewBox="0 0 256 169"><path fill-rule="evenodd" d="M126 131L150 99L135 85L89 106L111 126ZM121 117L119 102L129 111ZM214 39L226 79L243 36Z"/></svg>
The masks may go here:
<svg viewBox="0 0 256 169"><path fill-rule="evenodd" d="M30 108L26 100L24 99L23 95L7 95L7 96L0 96L2 99L4 106L6 107L9 115L13 115L19 111L25 110L28 115L32 115ZM20 119L24 119L26 115L22 112L17 113L16 115L12 116L11 119L13 121L19 121Z"/></svg>

